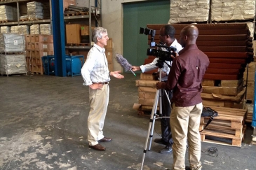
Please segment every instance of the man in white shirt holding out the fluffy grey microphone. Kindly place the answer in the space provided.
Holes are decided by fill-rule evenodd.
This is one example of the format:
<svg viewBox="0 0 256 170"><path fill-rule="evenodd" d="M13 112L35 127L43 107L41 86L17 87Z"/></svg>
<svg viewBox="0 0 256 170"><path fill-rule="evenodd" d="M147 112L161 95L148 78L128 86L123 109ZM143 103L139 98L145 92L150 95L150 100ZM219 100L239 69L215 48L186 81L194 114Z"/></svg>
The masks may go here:
<svg viewBox="0 0 256 170"><path fill-rule="evenodd" d="M170 24L166 24L165 26L161 27L160 29L160 42L163 43L163 45L166 45L168 47L173 47L177 49L177 53L182 50L182 45L177 42L175 39L175 28L171 26ZM151 71L153 69L159 68L156 66L158 64L159 58L155 58L153 62L141 65L141 66L132 66L133 71L142 71L144 73L145 71ZM171 66L170 61L166 61L167 64ZM161 80L166 82L168 79L168 74L170 72L170 67L163 63L163 67L161 68ZM164 90L162 90L162 106L163 106L163 117L170 117L170 104L168 101L169 99L172 99L173 92L172 90L166 91L168 94L168 97L166 96ZM155 139L154 142L166 145L165 148L161 149L159 153L171 153L173 151L172 145L173 145L173 139L172 134L170 131L170 118L161 118L161 139Z"/></svg>

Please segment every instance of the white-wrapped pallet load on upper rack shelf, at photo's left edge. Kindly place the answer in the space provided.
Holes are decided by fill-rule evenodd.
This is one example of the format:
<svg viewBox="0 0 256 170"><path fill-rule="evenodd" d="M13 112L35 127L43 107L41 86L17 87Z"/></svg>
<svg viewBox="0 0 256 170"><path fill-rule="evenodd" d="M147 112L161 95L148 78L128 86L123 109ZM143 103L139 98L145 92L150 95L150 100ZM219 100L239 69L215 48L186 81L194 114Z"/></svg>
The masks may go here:
<svg viewBox="0 0 256 170"><path fill-rule="evenodd" d="M0 20L17 21L17 8L13 6L0 6Z"/></svg>

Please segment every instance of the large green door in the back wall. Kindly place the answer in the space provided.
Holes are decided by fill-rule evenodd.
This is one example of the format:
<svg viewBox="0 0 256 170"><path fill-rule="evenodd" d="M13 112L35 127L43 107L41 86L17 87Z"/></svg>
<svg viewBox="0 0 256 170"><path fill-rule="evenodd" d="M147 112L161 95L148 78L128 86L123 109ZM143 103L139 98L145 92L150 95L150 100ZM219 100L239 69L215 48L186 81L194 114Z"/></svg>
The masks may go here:
<svg viewBox="0 0 256 170"><path fill-rule="evenodd" d="M167 24L170 0L123 3L123 57L140 66L147 58L147 36L139 34L147 24Z"/></svg>

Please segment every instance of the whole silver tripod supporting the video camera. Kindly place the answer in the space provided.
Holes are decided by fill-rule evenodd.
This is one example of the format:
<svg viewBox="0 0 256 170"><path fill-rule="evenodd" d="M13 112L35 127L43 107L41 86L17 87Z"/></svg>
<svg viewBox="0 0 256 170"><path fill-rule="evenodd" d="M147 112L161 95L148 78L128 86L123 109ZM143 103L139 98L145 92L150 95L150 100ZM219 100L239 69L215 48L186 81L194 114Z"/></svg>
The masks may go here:
<svg viewBox="0 0 256 170"><path fill-rule="evenodd" d="M159 81L161 82L161 68L159 70L160 70L159 71ZM167 99L169 101L169 104L170 104L170 99L168 98L168 94L167 94L166 91L164 91L164 92L165 92L164 94L166 94L166 97L167 97ZM149 128L148 128L148 131L147 131L147 139L146 139L145 144L144 144L142 164L141 164L141 167L140 167L141 170L143 169L144 158L145 158L145 155L147 153L147 143L148 143L148 141L149 141L148 150L151 149L151 143L152 143L152 138L153 138L155 120L159 119L159 118L156 118L156 115L157 115L156 111L157 111L157 104L158 103L159 103L159 118L169 118L169 117L162 117L162 91L161 91L161 89L159 89L159 90L156 91L154 104L153 104L153 108L152 108L152 111L151 111L151 116L150 116L150 120L149 120Z"/></svg>

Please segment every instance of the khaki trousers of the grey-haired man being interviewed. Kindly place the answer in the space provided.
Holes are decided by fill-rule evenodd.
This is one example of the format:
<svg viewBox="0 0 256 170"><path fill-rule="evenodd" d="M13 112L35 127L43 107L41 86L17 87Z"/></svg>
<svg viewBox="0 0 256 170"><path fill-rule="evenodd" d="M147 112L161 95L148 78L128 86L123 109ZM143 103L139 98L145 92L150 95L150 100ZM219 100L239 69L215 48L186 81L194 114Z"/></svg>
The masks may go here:
<svg viewBox="0 0 256 170"><path fill-rule="evenodd" d="M104 138L102 129L109 104L109 85L103 85L101 90L92 90L89 87L89 99L88 141L90 146L95 146L98 140Z"/></svg>

